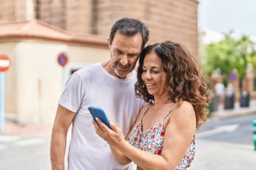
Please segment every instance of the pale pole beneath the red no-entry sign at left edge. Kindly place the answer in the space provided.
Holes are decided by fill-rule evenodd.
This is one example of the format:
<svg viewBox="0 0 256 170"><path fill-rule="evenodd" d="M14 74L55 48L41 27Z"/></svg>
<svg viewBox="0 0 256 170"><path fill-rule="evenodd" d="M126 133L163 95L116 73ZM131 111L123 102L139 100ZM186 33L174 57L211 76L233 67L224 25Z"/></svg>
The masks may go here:
<svg viewBox="0 0 256 170"><path fill-rule="evenodd" d="M0 131L5 127L5 73L0 71Z"/></svg>

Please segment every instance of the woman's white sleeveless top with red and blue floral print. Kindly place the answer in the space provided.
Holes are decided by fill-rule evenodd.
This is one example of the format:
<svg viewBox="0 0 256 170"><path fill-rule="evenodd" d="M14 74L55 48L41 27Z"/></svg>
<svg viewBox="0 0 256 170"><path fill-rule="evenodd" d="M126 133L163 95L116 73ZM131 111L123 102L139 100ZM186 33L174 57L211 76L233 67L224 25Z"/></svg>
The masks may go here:
<svg viewBox="0 0 256 170"><path fill-rule="evenodd" d="M172 109L174 108L174 106L172 106L170 111L166 114L166 116L164 116L162 120L154 124L154 126L152 126L152 128L150 128L149 130L145 130L144 132L142 132L142 119L145 116L148 109L150 108L150 105L149 105L146 112L142 116L141 120L135 127L135 129L127 138L129 143L135 146L136 148L140 148L142 151L146 151L148 153L152 153L156 155L161 155L162 146L164 143L164 119L168 116L168 114L170 114L170 112L172 112ZM195 156L195 140L194 139L189 145L189 148L183 160L181 161L181 163L179 163L179 165L177 165L177 167L175 167L174 170L184 170L184 169L187 169L187 167L190 167L191 162L193 161Z"/></svg>

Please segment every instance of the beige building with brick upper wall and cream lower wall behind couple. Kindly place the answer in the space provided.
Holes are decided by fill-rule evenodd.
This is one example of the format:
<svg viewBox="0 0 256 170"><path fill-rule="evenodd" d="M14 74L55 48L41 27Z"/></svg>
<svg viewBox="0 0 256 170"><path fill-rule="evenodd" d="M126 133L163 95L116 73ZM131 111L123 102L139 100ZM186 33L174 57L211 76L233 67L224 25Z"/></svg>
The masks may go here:
<svg viewBox="0 0 256 170"><path fill-rule="evenodd" d="M197 0L0 0L0 54L11 58L5 118L26 124L54 116L63 73L67 79L107 60L106 38L121 17L145 22L149 44L180 42L197 57L197 6ZM56 60L63 51L70 56L65 68Z"/></svg>

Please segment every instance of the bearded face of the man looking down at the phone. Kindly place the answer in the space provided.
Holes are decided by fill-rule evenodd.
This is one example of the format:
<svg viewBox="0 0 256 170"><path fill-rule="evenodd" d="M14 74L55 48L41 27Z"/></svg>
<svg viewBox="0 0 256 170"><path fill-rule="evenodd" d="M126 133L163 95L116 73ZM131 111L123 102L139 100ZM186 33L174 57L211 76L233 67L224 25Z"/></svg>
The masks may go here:
<svg viewBox="0 0 256 170"><path fill-rule="evenodd" d="M126 36L116 32L112 44L108 41L108 46L114 75L121 79L126 79L127 75L133 71L141 53L141 34Z"/></svg>

